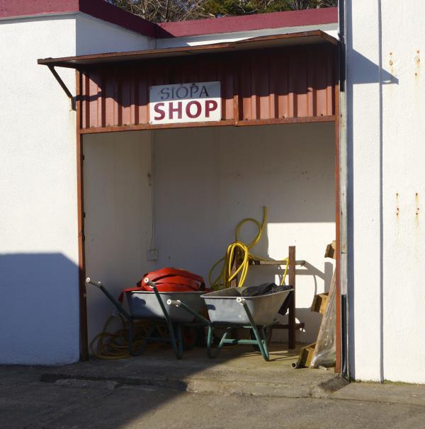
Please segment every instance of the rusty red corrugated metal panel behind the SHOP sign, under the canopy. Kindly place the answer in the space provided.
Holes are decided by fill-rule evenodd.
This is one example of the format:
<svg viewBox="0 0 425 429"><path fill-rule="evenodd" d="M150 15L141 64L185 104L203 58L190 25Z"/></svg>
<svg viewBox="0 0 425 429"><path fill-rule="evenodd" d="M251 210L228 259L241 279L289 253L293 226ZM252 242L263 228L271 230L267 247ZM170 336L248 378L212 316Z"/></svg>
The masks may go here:
<svg viewBox="0 0 425 429"><path fill-rule="evenodd" d="M149 86L194 81L221 82L222 120L331 116L335 49L307 45L88 68L81 73L81 128L147 125Z"/></svg>

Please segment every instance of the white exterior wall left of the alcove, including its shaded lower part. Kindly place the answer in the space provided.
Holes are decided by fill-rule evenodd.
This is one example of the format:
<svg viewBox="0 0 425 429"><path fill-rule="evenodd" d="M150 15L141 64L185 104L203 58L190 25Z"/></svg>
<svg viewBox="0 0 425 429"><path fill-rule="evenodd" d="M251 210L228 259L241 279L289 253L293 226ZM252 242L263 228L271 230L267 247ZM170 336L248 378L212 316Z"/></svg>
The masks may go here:
<svg viewBox="0 0 425 429"><path fill-rule="evenodd" d="M0 20L0 363L79 359L75 113L37 59L149 44L77 13Z"/></svg>

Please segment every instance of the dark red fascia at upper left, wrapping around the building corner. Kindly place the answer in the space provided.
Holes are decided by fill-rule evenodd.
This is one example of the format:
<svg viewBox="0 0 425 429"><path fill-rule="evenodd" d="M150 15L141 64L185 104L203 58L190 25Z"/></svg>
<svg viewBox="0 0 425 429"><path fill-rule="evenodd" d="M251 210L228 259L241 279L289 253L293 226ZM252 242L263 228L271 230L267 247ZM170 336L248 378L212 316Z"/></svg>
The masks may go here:
<svg viewBox="0 0 425 429"><path fill-rule="evenodd" d="M0 18L82 12L154 38L157 25L103 0L0 0Z"/></svg>

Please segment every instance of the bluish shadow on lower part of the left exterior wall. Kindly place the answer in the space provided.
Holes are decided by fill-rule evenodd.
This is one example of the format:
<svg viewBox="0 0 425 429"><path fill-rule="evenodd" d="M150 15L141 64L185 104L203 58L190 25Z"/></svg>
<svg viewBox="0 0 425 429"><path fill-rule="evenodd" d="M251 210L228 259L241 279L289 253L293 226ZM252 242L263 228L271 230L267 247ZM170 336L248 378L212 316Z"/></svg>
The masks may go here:
<svg viewBox="0 0 425 429"><path fill-rule="evenodd" d="M78 267L61 253L0 255L0 363L79 360Z"/></svg>

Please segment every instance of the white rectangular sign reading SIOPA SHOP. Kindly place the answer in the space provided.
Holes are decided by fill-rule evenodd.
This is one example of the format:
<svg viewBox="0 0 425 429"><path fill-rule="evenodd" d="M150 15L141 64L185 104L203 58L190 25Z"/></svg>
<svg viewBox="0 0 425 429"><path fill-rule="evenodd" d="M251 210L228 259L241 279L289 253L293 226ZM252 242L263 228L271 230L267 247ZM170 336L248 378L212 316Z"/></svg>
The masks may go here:
<svg viewBox="0 0 425 429"><path fill-rule="evenodd" d="M149 123L221 120L220 82L149 87Z"/></svg>

